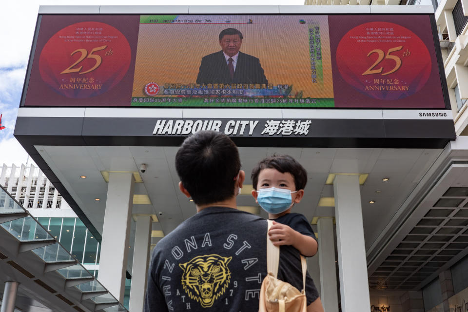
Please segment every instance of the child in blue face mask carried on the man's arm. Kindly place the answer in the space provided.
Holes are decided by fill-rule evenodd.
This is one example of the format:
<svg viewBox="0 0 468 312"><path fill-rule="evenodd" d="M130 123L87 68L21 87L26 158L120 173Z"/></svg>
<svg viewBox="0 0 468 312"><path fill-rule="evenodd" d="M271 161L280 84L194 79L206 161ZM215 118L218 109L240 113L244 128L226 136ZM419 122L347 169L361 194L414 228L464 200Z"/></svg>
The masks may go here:
<svg viewBox="0 0 468 312"><path fill-rule="evenodd" d="M294 203L304 196L307 172L294 158L273 155L262 159L252 170L252 195L255 201L268 212L273 226L268 232L275 246L292 245L302 255L310 257L317 253L318 244L306 217L291 213ZM307 307L308 312L323 312L322 302L309 274L306 277L306 293L316 294Z"/></svg>

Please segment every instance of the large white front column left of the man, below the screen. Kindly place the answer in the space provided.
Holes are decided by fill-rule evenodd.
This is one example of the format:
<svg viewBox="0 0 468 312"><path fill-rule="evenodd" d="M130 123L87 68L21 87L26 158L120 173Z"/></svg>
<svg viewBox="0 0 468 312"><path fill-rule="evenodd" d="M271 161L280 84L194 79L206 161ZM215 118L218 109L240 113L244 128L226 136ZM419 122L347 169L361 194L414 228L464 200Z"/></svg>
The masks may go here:
<svg viewBox="0 0 468 312"><path fill-rule="evenodd" d="M123 302L133 204L132 173L109 174L98 280Z"/></svg>

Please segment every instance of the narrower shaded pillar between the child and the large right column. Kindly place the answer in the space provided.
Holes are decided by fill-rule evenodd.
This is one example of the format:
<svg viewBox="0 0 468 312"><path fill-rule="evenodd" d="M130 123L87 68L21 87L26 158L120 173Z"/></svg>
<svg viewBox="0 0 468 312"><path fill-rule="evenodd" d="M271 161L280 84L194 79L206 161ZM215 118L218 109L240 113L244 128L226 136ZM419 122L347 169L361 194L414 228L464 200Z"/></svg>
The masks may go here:
<svg viewBox="0 0 468 312"><path fill-rule="evenodd" d="M336 286L335 240L333 219L318 218L318 258L320 265L320 297L323 310L338 312L338 287Z"/></svg>

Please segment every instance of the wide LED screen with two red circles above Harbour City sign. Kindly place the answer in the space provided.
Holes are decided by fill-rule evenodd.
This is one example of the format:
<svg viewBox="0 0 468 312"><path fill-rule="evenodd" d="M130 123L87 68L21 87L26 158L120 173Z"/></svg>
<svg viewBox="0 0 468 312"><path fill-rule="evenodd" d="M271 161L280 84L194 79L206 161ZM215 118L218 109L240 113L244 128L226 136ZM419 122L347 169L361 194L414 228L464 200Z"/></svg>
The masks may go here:
<svg viewBox="0 0 468 312"><path fill-rule="evenodd" d="M41 16L25 106L445 108L429 15Z"/></svg>

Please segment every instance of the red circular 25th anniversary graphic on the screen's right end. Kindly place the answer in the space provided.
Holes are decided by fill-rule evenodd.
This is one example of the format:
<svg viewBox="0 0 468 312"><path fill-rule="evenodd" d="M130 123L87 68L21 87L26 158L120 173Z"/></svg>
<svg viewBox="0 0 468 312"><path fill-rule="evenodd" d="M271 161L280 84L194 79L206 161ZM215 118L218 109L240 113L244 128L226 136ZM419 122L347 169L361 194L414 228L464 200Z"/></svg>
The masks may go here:
<svg viewBox="0 0 468 312"><path fill-rule="evenodd" d="M429 50L409 29L375 21L351 29L336 49L341 76L359 92L377 99L406 98L426 84Z"/></svg>

